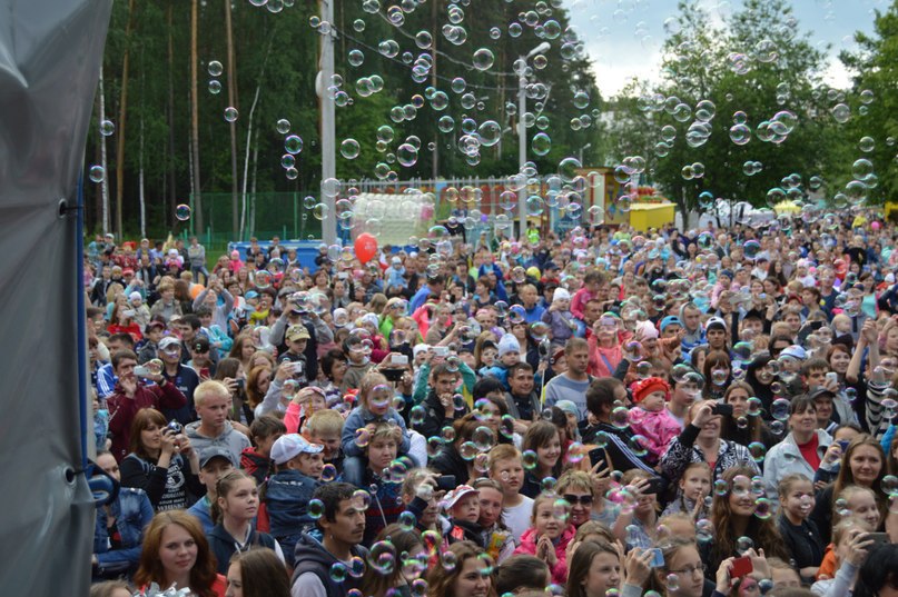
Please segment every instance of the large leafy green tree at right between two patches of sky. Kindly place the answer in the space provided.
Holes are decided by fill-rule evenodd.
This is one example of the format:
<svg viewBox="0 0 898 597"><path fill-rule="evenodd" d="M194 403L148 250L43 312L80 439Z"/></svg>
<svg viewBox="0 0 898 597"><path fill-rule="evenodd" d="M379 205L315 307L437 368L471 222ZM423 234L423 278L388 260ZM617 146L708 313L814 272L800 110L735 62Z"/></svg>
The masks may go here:
<svg viewBox="0 0 898 597"><path fill-rule="evenodd" d="M714 199L760 207L806 199L811 177L839 153L820 80L825 54L799 31L786 0L747 0L720 29L694 2L679 10L661 82L631 87L614 101L618 160L647 158L642 181L682 211L713 209ZM739 121L744 129L733 129ZM747 162L761 170L747 173ZM693 176L693 165L703 176ZM700 200L705 191L710 201Z"/></svg>

